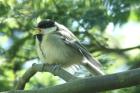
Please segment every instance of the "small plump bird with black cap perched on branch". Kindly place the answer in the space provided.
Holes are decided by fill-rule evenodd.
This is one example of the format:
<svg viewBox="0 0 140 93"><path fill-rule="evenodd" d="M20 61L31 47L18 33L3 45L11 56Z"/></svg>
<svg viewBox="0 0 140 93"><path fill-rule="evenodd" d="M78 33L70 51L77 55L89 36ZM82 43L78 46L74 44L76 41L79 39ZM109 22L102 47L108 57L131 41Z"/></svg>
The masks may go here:
<svg viewBox="0 0 140 93"><path fill-rule="evenodd" d="M64 68L81 64L94 75L104 75L101 63L66 26L43 19L37 23L34 35L37 54L42 62Z"/></svg>

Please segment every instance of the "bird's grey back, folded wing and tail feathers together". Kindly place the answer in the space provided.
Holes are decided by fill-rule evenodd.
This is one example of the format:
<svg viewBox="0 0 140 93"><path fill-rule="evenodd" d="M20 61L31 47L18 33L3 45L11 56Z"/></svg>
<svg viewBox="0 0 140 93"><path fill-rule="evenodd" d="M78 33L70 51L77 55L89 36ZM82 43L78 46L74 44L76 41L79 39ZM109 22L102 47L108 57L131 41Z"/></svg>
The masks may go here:
<svg viewBox="0 0 140 93"><path fill-rule="evenodd" d="M79 50L79 52L85 57L88 61L83 63L83 65L93 74L96 75L104 75L104 73L100 70L101 64L92 58L90 53L87 51L87 49L80 43L80 41L76 38L75 35L73 35L72 32L70 32L65 26L57 24L59 27L59 31L57 34L61 36L61 38L64 40L64 42L75 48L76 50Z"/></svg>

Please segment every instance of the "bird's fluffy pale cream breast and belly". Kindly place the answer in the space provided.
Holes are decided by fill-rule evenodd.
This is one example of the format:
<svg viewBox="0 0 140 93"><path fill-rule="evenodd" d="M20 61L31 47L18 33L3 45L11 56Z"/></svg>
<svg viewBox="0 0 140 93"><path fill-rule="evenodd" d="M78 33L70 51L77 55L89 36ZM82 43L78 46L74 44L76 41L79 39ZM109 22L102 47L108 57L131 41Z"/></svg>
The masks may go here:
<svg viewBox="0 0 140 93"><path fill-rule="evenodd" d="M58 36L43 36L40 49L38 49L38 54L40 59L43 59L42 61L49 64L68 66L73 63L79 63L82 60L80 52L65 44Z"/></svg>

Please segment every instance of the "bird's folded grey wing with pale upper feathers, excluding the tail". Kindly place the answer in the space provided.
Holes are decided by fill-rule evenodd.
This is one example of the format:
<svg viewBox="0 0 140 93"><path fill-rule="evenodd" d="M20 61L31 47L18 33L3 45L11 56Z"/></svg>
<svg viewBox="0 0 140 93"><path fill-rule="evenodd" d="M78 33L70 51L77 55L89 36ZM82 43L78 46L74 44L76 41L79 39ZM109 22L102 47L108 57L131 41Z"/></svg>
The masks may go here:
<svg viewBox="0 0 140 93"><path fill-rule="evenodd" d="M72 32L70 32L68 29L60 29L58 33L61 34L61 38L67 45L75 48L76 50L79 50L79 52L90 62L90 64L94 65L97 68L101 67L101 64L97 60L92 58L87 49L80 43L80 41Z"/></svg>

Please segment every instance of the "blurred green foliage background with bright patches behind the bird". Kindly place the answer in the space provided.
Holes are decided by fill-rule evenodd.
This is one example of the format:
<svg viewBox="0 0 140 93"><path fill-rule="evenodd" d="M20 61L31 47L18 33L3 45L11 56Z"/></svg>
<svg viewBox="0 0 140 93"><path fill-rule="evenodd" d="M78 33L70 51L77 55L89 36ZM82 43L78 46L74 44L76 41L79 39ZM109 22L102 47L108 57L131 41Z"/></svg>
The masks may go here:
<svg viewBox="0 0 140 93"><path fill-rule="evenodd" d="M13 89L38 62L32 32L46 18L67 26L106 73L140 66L140 0L0 0L0 91ZM61 81L50 73L37 73L26 89ZM140 86L105 93L140 93Z"/></svg>

